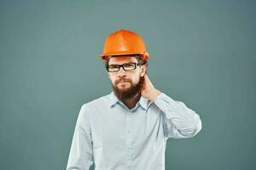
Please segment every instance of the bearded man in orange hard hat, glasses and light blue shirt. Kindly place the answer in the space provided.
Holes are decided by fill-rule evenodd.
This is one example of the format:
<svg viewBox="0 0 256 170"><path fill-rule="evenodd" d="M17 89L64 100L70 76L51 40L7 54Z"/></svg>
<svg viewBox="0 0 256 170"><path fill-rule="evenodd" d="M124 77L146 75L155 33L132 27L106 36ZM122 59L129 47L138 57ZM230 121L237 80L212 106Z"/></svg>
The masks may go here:
<svg viewBox="0 0 256 170"><path fill-rule="evenodd" d="M164 170L166 140L195 136L200 116L154 88L137 33L113 32L100 56L113 92L82 105L67 169L89 170L94 163L96 170Z"/></svg>

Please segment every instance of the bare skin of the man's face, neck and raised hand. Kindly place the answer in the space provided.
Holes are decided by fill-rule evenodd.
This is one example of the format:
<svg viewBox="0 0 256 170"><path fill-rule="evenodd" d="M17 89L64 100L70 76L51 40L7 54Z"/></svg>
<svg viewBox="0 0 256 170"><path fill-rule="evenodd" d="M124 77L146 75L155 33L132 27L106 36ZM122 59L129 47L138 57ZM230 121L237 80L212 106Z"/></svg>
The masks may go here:
<svg viewBox="0 0 256 170"><path fill-rule="evenodd" d="M119 56L119 57L113 57L109 59L108 64L109 65L122 65L124 63L129 62L135 62L137 63L137 59L135 57L129 57L129 56ZM137 68L133 71L124 71L121 67L118 72L108 72L108 77L110 81L114 84L115 81L119 80L121 77L124 77L126 79L130 79L133 84L137 84L139 82L140 77L145 77L144 87L141 89L141 95L146 98L150 99L153 102L155 99L157 99L158 95L160 95L160 90L154 88L154 85L152 82L150 82L147 74L146 74L147 66L146 65L140 65L137 66ZM120 90L125 90L127 88L131 87L131 82L119 82L117 84L117 88ZM137 104L138 99L140 99L140 95L135 96L132 99L125 99L124 104L128 108L132 108Z"/></svg>

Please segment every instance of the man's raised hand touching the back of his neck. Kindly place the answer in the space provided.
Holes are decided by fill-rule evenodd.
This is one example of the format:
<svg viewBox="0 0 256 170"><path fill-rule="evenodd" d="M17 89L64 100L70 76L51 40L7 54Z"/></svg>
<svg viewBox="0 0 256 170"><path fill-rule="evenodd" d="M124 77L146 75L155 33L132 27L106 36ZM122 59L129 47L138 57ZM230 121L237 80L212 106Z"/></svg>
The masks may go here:
<svg viewBox="0 0 256 170"><path fill-rule="evenodd" d="M150 99L151 101L155 101L155 99L160 95L160 91L155 89L152 82L150 82L148 75L145 75L144 86L141 89L142 96L146 99Z"/></svg>

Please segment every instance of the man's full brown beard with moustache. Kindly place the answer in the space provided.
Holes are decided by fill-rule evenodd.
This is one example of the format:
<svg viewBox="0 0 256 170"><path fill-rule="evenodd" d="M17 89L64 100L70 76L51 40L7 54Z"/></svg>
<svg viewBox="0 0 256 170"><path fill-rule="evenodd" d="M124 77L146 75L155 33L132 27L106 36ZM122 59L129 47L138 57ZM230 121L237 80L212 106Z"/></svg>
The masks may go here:
<svg viewBox="0 0 256 170"><path fill-rule="evenodd" d="M141 94L141 89L143 88L144 80L145 80L144 77L140 77L139 82L137 82L137 84L133 84L130 79L120 78L119 80L114 82L114 85L112 84L113 92L116 95L116 97L121 101L125 99L132 99L135 96L137 96L137 94L139 95ZM130 82L131 87L125 88L125 89L119 89L117 87L117 84L119 82Z"/></svg>

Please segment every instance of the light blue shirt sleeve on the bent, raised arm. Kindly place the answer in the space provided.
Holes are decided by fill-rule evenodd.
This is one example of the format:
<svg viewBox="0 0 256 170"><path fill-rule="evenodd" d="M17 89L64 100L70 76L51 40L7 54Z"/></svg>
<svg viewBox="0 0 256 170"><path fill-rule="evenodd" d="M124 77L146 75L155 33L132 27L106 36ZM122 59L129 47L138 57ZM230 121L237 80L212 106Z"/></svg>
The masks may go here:
<svg viewBox="0 0 256 170"><path fill-rule="evenodd" d="M201 131L201 119L183 102L161 93L154 101L164 113L164 129L167 138L191 138Z"/></svg>

